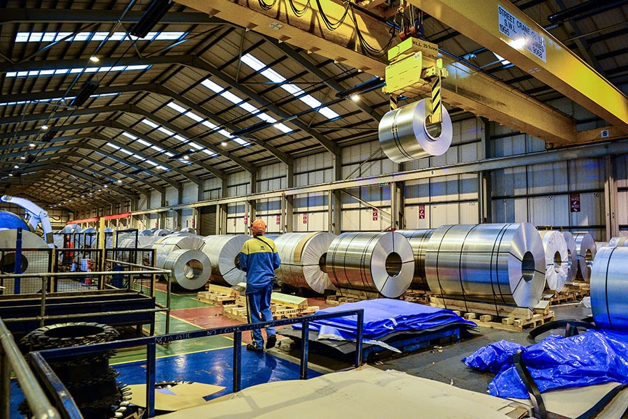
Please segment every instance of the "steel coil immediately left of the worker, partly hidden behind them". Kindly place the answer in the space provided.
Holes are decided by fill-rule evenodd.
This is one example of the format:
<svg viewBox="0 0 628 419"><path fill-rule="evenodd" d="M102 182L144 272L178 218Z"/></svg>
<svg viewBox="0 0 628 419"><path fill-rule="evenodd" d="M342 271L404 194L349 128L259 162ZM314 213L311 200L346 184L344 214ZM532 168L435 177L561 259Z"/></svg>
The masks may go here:
<svg viewBox="0 0 628 419"><path fill-rule="evenodd" d="M244 234L209 235L203 238L205 245L202 251L211 261L212 282L228 286L246 282L246 272L239 269L238 258L244 242L250 238Z"/></svg>

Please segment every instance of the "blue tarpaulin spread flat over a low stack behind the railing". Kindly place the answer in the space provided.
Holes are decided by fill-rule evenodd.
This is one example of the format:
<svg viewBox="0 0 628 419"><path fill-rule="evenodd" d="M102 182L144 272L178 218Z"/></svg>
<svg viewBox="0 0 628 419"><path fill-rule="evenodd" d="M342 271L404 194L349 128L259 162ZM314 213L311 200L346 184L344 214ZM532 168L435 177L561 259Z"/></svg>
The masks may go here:
<svg viewBox="0 0 628 419"><path fill-rule="evenodd" d="M388 298L349 302L322 309L316 313L334 313L355 309L364 309L363 335L364 339L368 340L380 339L392 332L425 330L451 323L465 325L465 327L477 327L475 323L461 318L451 310ZM330 318L310 323L311 330L317 330L319 336L331 335L341 339L355 339L356 326L357 316ZM301 325L293 325L293 327L300 329Z"/></svg>

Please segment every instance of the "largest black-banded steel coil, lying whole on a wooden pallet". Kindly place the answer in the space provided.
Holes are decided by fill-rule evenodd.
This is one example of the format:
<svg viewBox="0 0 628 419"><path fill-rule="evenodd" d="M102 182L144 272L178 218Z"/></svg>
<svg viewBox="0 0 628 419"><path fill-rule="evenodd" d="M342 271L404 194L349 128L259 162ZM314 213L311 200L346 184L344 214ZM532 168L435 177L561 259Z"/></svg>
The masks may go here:
<svg viewBox="0 0 628 419"><path fill-rule="evenodd" d="M544 265L541 236L529 223L441 226L425 255L433 293L529 308L541 300Z"/></svg>

